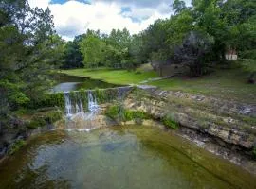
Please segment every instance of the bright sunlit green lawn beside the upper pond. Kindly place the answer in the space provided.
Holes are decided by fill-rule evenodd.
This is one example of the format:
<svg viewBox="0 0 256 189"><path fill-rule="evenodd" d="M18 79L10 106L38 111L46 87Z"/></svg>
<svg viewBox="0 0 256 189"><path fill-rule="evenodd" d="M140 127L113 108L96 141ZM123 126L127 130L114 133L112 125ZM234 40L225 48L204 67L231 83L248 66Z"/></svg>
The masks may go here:
<svg viewBox="0 0 256 189"><path fill-rule="evenodd" d="M127 70L112 70L112 69L73 69L62 70L64 74L77 76L77 77L90 77L93 79L101 79L108 83L129 85L139 84L139 82L147 80L149 78L158 77L154 71L127 71Z"/></svg>

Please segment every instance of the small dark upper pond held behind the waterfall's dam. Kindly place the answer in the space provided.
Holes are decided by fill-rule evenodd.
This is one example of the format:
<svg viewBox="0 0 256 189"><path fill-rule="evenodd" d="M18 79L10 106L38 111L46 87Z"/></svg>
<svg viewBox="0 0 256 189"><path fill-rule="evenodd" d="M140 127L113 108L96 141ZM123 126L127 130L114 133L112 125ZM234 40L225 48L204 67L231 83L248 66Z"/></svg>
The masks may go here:
<svg viewBox="0 0 256 189"><path fill-rule="evenodd" d="M54 86L52 92L67 92L80 89L105 89L119 87L119 85L104 82L102 80L91 79L88 77L74 77L60 74L56 77L57 85Z"/></svg>

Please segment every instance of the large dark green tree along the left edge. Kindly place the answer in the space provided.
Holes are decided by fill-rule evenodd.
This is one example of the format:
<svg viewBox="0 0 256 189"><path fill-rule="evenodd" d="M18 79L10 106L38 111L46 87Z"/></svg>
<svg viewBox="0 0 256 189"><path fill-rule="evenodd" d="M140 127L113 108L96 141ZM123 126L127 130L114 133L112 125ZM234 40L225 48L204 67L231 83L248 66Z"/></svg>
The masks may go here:
<svg viewBox="0 0 256 189"><path fill-rule="evenodd" d="M61 53L49 9L31 9L27 0L0 3L0 116L7 117L46 94Z"/></svg>

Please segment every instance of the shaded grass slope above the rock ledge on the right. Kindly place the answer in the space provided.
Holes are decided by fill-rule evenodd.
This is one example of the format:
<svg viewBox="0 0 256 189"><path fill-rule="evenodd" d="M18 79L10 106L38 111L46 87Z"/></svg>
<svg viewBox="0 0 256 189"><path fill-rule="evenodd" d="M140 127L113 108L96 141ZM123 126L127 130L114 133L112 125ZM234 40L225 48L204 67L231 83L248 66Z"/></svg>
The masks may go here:
<svg viewBox="0 0 256 189"><path fill-rule="evenodd" d="M148 84L165 90L182 91L190 94L204 94L222 99L245 103L256 103L256 85L248 84L250 72L256 71L256 62L237 62L241 66L229 69L216 69L205 77L174 77L153 81Z"/></svg>

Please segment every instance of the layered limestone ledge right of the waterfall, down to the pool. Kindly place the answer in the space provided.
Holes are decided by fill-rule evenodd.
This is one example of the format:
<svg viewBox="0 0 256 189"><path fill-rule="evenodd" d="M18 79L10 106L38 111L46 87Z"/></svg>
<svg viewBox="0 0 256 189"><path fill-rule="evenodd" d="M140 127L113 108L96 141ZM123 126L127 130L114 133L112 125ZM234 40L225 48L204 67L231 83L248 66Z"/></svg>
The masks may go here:
<svg viewBox="0 0 256 189"><path fill-rule="evenodd" d="M147 112L155 120L170 115L180 126L177 134L256 174L255 105L146 89L129 94L124 106Z"/></svg>

